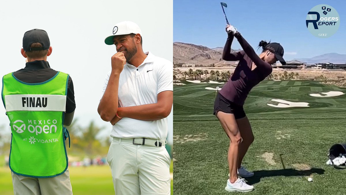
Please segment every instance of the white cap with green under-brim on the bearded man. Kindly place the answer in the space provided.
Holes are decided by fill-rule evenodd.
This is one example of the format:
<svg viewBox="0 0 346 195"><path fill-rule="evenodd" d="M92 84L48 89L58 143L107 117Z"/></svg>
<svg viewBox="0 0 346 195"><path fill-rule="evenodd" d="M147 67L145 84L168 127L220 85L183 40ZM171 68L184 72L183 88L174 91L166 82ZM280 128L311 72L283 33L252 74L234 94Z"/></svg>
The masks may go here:
<svg viewBox="0 0 346 195"><path fill-rule="evenodd" d="M140 34L142 35L142 31L140 30L139 26L130 21L124 21L119 22L113 27L113 35L108 36L106 39L104 39L104 43L107 45L113 45L113 38L118 35L127 35L127 34Z"/></svg>

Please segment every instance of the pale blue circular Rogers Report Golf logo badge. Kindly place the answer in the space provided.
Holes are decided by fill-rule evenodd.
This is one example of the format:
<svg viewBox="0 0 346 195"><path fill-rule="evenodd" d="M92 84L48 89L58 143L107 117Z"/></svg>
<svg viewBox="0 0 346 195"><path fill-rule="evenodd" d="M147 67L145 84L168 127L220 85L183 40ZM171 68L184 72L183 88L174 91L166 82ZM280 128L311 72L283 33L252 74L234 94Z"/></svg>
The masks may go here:
<svg viewBox="0 0 346 195"><path fill-rule="evenodd" d="M320 4L308 12L306 27L313 36L328 38L336 33L340 26L340 17L336 9Z"/></svg>

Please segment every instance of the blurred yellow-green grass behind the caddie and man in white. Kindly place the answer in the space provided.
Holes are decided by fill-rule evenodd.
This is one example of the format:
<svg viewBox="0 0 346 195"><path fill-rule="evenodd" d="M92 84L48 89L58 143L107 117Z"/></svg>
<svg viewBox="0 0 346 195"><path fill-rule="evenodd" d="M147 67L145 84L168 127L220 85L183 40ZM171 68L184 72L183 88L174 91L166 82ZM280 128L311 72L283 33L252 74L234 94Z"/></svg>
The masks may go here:
<svg viewBox="0 0 346 195"><path fill-rule="evenodd" d="M73 194L114 195L112 175L108 165L69 167L69 170ZM13 194L11 171L8 167L0 168L0 194ZM171 180L171 194L173 194L173 180Z"/></svg>

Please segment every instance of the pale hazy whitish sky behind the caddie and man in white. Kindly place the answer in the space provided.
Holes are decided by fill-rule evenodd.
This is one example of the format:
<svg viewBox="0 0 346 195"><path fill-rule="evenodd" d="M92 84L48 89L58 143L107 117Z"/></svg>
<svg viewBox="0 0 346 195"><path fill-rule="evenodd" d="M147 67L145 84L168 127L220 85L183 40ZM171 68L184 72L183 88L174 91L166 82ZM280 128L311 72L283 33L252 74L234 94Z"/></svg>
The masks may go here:
<svg viewBox="0 0 346 195"><path fill-rule="evenodd" d="M111 124L97 113L104 78L111 70L115 45L104 39L116 23L129 20L142 30L143 50L173 61L173 1L4 1L0 3L2 37L1 77L25 67L22 38L34 28L47 31L52 55L51 68L70 74L75 92L75 118L85 127L91 120L111 132ZM173 70L173 67L172 67ZM172 142L173 117L168 117ZM9 128L5 109L0 107L0 124ZM10 132L9 132L10 133Z"/></svg>

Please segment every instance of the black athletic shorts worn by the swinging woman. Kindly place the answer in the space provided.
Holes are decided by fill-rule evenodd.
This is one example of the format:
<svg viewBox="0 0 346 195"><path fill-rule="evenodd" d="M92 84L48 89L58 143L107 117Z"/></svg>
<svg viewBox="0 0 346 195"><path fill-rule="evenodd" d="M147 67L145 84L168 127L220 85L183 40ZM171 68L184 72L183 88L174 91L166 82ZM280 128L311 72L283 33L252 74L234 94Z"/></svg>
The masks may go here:
<svg viewBox="0 0 346 195"><path fill-rule="evenodd" d="M243 106L237 105L229 100L227 100L220 93L217 94L214 103L214 115L216 116L218 111L232 113L236 119L244 118L245 112Z"/></svg>

